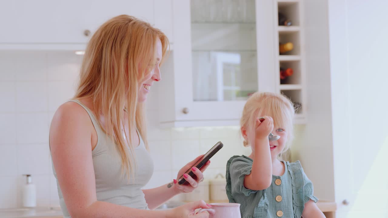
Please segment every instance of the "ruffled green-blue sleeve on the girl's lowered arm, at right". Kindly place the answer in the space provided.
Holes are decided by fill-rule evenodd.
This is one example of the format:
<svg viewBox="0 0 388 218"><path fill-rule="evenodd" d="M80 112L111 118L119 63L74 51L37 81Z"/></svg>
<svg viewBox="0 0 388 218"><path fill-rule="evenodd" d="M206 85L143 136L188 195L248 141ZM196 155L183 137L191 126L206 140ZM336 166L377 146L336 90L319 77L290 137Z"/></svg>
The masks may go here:
<svg viewBox="0 0 388 218"><path fill-rule="evenodd" d="M287 165L291 175L294 217L301 217L305 203L310 199L317 202L318 199L314 196L313 184L303 171L300 161L294 163L287 162Z"/></svg>

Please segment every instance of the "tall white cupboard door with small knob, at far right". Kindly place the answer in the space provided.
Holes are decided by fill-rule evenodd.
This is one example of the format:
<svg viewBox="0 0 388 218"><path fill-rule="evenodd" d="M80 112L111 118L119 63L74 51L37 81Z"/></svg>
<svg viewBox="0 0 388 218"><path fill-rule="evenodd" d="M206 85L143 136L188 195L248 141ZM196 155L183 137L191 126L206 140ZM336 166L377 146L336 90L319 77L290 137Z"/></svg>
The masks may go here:
<svg viewBox="0 0 388 218"><path fill-rule="evenodd" d="M388 2L328 2L337 217L388 217Z"/></svg>

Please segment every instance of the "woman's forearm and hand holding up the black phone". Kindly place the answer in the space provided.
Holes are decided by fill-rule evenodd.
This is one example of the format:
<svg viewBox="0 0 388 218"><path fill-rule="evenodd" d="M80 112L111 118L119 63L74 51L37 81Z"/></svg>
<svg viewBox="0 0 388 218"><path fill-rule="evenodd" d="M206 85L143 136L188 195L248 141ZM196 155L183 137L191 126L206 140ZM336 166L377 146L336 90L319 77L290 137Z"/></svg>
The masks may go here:
<svg viewBox="0 0 388 218"><path fill-rule="evenodd" d="M195 164L199 159L201 159L203 155L198 156L193 161L187 163L182 169L179 170L178 177L180 177L183 173L185 173L193 164ZM187 175L187 182L189 182L187 185L179 185L177 180L174 180L171 183L162 185L160 187L154 188L154 189L143 189L143 193L145 196L145 201L148 204L149 209L155 209L164 202L171 199L171 197L176 196L179 193L187 193L192 192L194 189L198 187L198 180L201 180L203 178L202 172L208 168L210 164L210 161L208 161L203 167L201 167L201 170L199 170L196 167L192 168L193 173L197 176L197 180L194 180L191 176Z"/></svg>

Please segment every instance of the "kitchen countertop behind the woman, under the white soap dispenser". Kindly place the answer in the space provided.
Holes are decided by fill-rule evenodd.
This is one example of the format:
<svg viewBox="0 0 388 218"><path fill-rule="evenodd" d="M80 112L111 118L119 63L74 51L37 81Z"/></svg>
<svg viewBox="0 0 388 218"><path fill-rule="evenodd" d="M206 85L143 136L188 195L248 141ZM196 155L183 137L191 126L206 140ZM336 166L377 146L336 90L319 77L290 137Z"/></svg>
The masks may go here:
<svg viewBox="0 0 388 218"><path fill-rule="evenodd" d="M0 209L1 218L62 218L61 208Z"/></svg>

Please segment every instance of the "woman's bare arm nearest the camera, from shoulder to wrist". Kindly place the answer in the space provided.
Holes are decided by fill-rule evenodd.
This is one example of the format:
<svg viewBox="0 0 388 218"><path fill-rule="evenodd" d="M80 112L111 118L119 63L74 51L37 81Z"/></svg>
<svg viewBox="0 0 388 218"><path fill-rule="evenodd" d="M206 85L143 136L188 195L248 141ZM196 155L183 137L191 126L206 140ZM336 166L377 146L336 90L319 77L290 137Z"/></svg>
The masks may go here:
<svg viewBox="0 0 388 218"><path fill-rule="evenodd" d="M146 211L97 201L91 144L93 131L87 112L73 102L59 107L50 126L51 156L71 217L168 217L169 211Z"/></svg>

